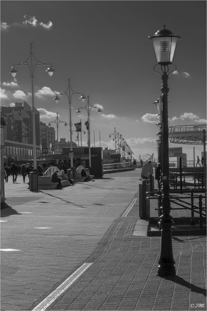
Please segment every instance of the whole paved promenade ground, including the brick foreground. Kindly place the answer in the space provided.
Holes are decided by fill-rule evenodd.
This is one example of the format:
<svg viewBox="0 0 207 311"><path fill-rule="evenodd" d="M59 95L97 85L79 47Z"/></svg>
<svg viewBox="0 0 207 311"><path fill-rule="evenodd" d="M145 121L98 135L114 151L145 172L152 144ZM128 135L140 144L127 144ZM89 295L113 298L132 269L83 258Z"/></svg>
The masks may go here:
<svg viewBox="0 0 207 311"><path fill-rule="evenodd" d="M30 192L11 177L1 210L1 310L206 310L206 237L133 236L140 170ZM152 204L154 207L154 203Z"/></svg>

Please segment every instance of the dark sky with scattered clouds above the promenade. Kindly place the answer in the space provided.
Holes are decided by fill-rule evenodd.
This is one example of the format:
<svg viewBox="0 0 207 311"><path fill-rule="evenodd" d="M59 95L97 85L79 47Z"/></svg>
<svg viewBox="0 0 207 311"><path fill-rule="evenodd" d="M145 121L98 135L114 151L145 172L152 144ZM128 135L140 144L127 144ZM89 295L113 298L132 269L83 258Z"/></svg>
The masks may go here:
<svg viewBox="0 0 207 311"><path fill-rule="evenodd" d="M48 124L56 119L69 123L66 96L56 94L68 88L90 96L90 104L100 107L90 112L91 146L115 149L116 132L122 134L134 157L156 151L158 123L152 104L161 95L160 75L148 36L163 28L182 37L174 58L176 72L169 75L169 126L206 124L206 1L1 1L1 105L26 101L32 105L28 67L11 66L30 57L41 63L34 76L35 107L40 120ZM79 95L71 101L74 123L87 121L87 111ZM56 126L55 126L56 129ZM100 133L100 136L99 136ZM56 130L57 137L57 130ZM69 127L59 124L58 137L70 140ZM99 141L100 137L100 141ZM75 141L76 135L73 135ZM82 144L87 145L86 135ZM182 146L187 160L193 159L193 145ZM203 146L195 145L195 157ZM171 159L170 159L171 160ZM173 160L176 160L173 159Z"/></svg>

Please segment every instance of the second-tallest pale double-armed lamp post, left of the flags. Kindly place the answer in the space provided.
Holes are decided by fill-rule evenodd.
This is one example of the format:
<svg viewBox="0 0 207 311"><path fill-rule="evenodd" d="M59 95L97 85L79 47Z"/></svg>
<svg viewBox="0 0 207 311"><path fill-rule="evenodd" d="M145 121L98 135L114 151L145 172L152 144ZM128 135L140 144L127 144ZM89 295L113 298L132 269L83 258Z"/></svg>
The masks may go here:
<svg viewBox="0 0 207 311"><path fill-rule="evenodd" d="M67 93L68 92L68 93ZM68 78L68 88L65 92L61 93L61 94L57 94L55 95L54 99L56 103L59 102L60 98L58 97L58 95L66 95L67 96L67 99L68 99L68 104L69 104L69 116L70 116L70 121L69 121L69 127L70 127L70 150L73 151L73 144L72 144L72 122L71 122L71 100L72 100L72 97L73 95L82 95L82 101L85 101L85 96L83 95L83 93L77 93L77 92L74 92L72 89L71 89L71 79ZM67 123L65 123L65 126L67 126ZM71 157L71 166L73 167L73 157Z"/></svg>

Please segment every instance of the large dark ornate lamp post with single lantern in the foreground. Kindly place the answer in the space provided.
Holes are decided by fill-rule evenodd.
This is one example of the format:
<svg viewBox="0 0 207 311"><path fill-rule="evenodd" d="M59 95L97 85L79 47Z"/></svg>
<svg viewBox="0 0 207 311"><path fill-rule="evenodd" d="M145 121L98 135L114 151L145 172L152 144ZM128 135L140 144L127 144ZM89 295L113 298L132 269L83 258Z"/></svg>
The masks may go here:
<svg viewBox="0 0 207 311"><path fill-rule="evenodd" d="M162 78L162 145L163 145L163 183L162 183L162 216L160 216L159 225L161 230L161 253L158 266L158 276L173 276L176 274L175 261L173 258L172 246L172 225L174 225L173 217L170 216L170 199L169 199L169 141L168 141L168 74L169 65L173 64L177 41L182 39L180 36L174 35L170 30L163 26L153 36L147 39L152 41L156 63L160 65ZM154 66L154 68L156 67ZM174 65L173 65L174 66ZM175 67L175 66L174 66ZM175 67L176 70L176 67ZM173 70L173 71L175 71ZM155 71L155 70L154 70ZM171 71L171 72L173 72ZM157 72L157 71L155 71Z"/></svg>

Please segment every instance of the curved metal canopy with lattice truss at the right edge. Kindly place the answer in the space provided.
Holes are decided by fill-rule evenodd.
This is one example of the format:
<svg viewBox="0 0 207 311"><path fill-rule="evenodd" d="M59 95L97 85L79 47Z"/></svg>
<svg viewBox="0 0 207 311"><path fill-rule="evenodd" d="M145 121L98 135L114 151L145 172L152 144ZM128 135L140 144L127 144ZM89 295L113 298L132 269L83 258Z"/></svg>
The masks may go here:
<svg viewBox="0 0 207 311"><path fill-rule="evenodd" d="M203 145L203 130L205 130L206 142L206 124L171 126L169 127L169 139L174 144Z"/></svg>

